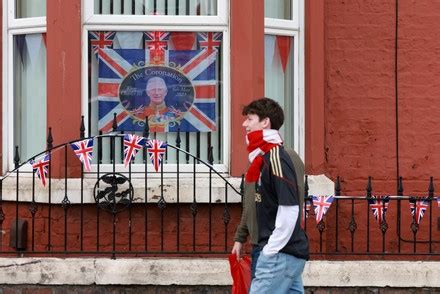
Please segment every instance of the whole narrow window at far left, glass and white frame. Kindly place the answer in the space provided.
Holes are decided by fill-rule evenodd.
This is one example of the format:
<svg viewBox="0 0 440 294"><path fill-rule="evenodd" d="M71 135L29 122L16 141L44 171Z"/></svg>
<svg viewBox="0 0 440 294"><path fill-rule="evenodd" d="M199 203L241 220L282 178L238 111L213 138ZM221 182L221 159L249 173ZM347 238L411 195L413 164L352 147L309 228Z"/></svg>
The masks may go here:
<svg viewBox="0 0 440 294"><path fill-rule="evenodd" d="M3 170L46 146L46 1L5 1L3 28Z"/></svg>

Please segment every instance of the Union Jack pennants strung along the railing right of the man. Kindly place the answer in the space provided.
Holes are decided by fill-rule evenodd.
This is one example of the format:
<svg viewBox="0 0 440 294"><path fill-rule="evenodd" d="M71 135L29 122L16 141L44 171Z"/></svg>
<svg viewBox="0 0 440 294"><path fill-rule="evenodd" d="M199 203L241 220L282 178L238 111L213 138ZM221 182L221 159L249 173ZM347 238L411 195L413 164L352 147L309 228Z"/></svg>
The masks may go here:
<svg viewBox="0 0 440 294"><path fill-rule="evenodd" d="M311 199L311 200L309 200ZM315 212L316 223L319 223L323 217L327 214L330 206L333 203L333 196L311 196L304 203L304 213L303 222L306 218L310 216L310 210L313 205L313 211ZM433 198L437 199L437 206L440 208L440 197ZM372 196L368 199L368 205L371 208L371 212L377 223L380 225L383 220L385 220L386 213L388 211L388 206L390 203L389 196ZM409 208L411 215L416 224L420 224L426 210L429 207L429 201L426 198L423 199L410 199Z"/></svg>

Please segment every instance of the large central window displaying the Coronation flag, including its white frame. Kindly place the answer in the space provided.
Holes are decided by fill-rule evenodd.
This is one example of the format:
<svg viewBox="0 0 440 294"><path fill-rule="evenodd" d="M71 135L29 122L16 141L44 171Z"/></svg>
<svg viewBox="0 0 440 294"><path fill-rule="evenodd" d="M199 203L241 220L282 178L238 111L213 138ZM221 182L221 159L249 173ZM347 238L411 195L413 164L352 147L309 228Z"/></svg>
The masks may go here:
<svg viewBox="0 0 440 294"><path fill-rule="evenodd" d="M212 147L216 169L227 171L224 6L215 0L86 4L83 113L89 134L110 132L114 114L118 131L142 134L148 116L150 137L175 145L179 130L182 149L208 161ZM121 15L126 23L108 24ZM99 161L106 164L110 150L104 146ZM136 162L142 162L140 153ZM165 162L176 162L173 150Z"/></svg>

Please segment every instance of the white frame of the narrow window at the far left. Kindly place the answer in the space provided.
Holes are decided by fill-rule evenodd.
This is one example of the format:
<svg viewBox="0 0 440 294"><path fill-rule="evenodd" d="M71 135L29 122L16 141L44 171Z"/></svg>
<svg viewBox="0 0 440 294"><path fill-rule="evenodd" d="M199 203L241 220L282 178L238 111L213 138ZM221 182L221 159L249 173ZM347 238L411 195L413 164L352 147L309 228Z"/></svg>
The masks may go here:
<svg viewBox="0 0 440 294"><path fill-rule="evenodd" d="M3 0L3 173L14 168L14 36L46 32L46 17L15 18L15 0ZM23 160L23 158L22 158ZM30 167L29 167L29 170Z"/></svg>

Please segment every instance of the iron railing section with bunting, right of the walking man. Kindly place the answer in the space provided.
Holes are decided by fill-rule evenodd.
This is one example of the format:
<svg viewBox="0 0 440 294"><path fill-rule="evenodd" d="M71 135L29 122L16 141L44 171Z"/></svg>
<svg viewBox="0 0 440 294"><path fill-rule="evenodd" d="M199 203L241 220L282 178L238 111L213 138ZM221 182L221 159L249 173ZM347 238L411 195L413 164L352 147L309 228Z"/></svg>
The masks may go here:
<svg viewBox="0 0 440 294"><path fill-rule="evenodd" d="M309 195L306 177L302 225L312 254L440 257L433 178L425 196L404 195L403 179L398 183L398 195L375 195L369 177L364 196L349 196L341 195L338 177L334 195Z"/></svg>

